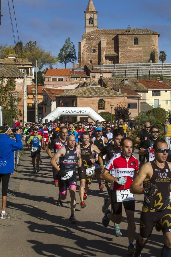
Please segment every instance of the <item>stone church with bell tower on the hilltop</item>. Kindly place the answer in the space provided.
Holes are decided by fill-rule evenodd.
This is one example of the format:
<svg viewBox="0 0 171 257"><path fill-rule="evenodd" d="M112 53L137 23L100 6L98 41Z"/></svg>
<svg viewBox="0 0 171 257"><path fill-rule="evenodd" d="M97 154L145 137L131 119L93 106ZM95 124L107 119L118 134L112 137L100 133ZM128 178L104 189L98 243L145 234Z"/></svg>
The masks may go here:
<svg viewBox="0 0 171 257"><path fill-rule="evenodd" d="M149 29L99 29L97 11L89 0L85 13L85 33L79 42L78 62L84 65L102 65L127 62L148 62L155 51L158 62L158 37Z"/></svg>

